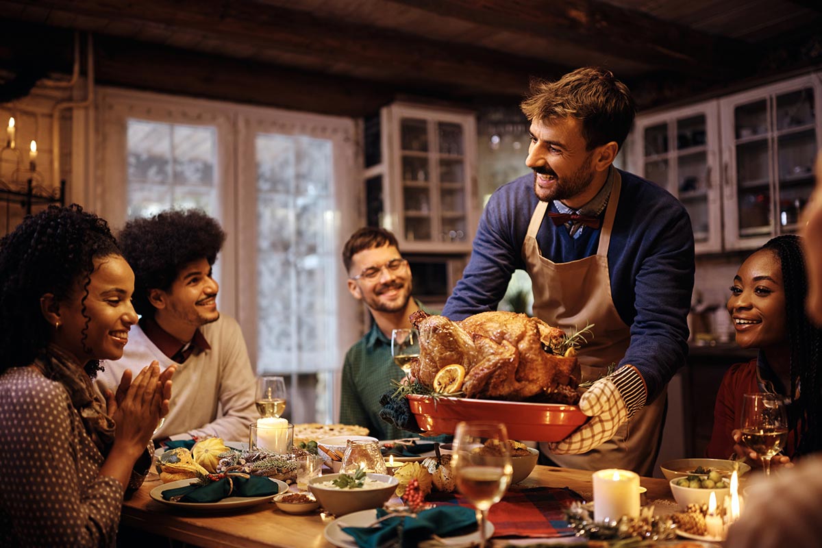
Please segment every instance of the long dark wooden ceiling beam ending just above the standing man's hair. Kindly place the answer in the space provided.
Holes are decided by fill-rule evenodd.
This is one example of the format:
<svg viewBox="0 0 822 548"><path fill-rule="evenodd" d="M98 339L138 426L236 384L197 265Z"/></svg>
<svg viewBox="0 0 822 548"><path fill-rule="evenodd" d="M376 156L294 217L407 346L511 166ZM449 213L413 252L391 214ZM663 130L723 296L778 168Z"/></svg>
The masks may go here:
<svg viewBox="0 0 822 548"><path fill-rule="evenodd" d="M6 0L4 3L15 3ZM222 0L39 0L39 10L73 16L83 30L105 33L104 22L142 25L145 38L185 30L205 43L237 42L272 62L308 70L354 74L395 85L447 85L455 90L520 95L529 76L557 76L570 67L463 44L323 19L259 2ZM51 17L49 17L51 18ZM48 22L48 21L44 21ZM192 43L192 48L197 48ZM224 54L230 54L226 48ZM214 52L210 52L214 53ZM256 58L260 58L256 54ZM290 61L289 61L290 60Z"/></svg>

